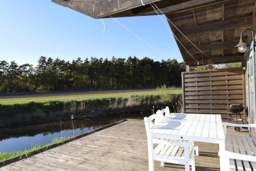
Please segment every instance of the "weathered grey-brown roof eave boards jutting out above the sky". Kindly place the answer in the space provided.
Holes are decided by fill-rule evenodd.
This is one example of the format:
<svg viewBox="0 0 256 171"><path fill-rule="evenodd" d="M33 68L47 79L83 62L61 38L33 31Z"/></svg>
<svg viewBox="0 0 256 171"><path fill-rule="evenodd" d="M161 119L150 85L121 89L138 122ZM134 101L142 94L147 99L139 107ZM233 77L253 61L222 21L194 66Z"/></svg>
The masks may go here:
<svg viewBox="0 0 256 171"><path fill-rule="evenodd" d="M219 4L232 0L51 0L94 18L156 15L150 4L156 5L163 13L189 10L202 6ZM144 5L142 5L142 3Z"/></svg>

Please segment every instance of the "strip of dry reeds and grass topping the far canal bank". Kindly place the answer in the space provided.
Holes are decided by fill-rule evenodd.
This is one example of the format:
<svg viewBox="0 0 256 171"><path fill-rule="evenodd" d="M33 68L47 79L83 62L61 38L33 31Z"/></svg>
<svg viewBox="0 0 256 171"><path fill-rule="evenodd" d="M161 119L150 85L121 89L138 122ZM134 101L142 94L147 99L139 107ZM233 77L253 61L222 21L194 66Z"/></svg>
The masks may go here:
<svg viewBox="0 0 256 171"><path fill-rule="evenodd" d="M126 98L99 98L89 100L72 101L49 101L49 102L29 102L22 104L0 104L0 116L13 117L20 114L33 115L36 113L76 113L86 111L92 106L109 106L111 109L121 109L132 106L146 106L157 103L164 105L170 102L181 101L181 94L169 93L169 91L158 91L157 95L136 95Z"/></svg>

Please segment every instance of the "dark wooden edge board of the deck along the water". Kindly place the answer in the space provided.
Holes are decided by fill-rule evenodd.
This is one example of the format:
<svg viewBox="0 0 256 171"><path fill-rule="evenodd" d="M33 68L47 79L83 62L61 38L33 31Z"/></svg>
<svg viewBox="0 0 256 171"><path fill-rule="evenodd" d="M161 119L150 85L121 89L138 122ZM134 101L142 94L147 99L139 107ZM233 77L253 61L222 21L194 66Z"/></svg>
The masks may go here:
<svg viewBox="0 0 256 171"><path fill-rule="evenodd" d="M39 154L39 153L42 153L42 152L46 152L46 151L48 151L49 149L52 149L52 148L55 148L55 147L57 147L57 146L66 144L66 143L68 143L68 142L72 142L72 141L77 140L77 139L80 139L80 138L82 138L82 137L86 137L86 136L88 136L88 135L91 135L91 134L93 134L93 133L99 132L99 131L101 131L101 130L107 129L107 128L111 127L111 126L117 125L117 124L119 124L119 123L123 123L123 122L128 121L128 120L132 120L132 119L122 119L122 120L119 120L119 121L117 121L117 122L114 122L114 123L111 123L111 124L108 124L108 125L99 127L98 129L89 131L89 132L87 132L87 133L83 133L83 134L77 135L77 136L75 136L75 137L69 138L69 139L67 139L67 140L64 140L64 141L61 141L61 142L58 142L58 143L55 143L55 144L52 144L52 145L49 145L49 146L46 146L46 147L39 148L39 149L37 149L37 150L35 150L35 151L32 151L32 152L30 152L30 153L28 153L28 154L24 154L24 155L20 155L20 156L16 156L16 157L13 157L13 158L4 160L4 161L0 162L0 168L3 167L3 166L6 166L6 165L8 165L8 164L17 162L17 161L19 161L19 160L23 160L23 159L29 158L29 157L34 156L34 155L36 155L36 154Z"/></svg>

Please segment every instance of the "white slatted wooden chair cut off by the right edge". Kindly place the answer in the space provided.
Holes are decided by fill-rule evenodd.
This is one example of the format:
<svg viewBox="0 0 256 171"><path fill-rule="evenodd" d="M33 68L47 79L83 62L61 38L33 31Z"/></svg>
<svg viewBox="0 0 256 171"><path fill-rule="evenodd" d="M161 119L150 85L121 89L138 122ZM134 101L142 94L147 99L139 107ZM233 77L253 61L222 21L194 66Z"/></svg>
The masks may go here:
<svg viewBox="0 0 256 171"><path fill-rule="evenodd" d="M243 135L229 135L227 134L227 126L240 126L256 128L256 124L233 124L223 122L224 132L226 134L226 151L219 152L227 164L226 170L256 170L256 139ZM229 161L229 163L228 163Z"/></svg>

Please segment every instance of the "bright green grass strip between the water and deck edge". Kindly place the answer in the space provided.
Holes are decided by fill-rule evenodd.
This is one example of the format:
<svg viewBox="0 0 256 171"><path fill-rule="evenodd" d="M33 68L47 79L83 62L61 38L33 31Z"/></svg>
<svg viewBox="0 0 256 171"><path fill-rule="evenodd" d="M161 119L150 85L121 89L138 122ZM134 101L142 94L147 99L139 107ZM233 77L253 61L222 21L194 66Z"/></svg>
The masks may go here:
<svg viewBox="0 0 256 171"><path fill-rule="evenodd" d="M34 146L30 149L25 149L24 151L19 151L19 152L10 152L10 153L1 153L0 152L0 162L5 161L7 159L16 157L16 156L20 156L20 155L26 155L28 156L29 153L33 152L33 151L37 151L38 149L42 148L42 147L46 147L52 144L56 144L59 143L61 141L67 140L70 137L60 137L60 138L54 138L50 143L48 144L34 144Z"/></svg>

